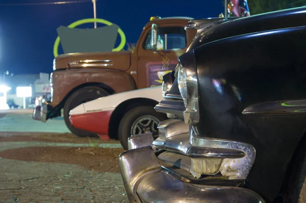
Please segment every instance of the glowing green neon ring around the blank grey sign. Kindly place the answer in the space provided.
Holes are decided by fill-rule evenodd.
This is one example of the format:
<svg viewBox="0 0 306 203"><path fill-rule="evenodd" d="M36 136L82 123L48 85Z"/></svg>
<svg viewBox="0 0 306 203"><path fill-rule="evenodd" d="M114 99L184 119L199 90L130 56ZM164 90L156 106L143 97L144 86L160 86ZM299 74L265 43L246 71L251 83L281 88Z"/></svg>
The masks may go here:
<svg viewBox="0 0 306 203"><path fill-rule="evenodd" d="M102 23L102 24L106 24L106 25L112 25L113 24L112 22L107 21L105 19L87 18L87 19L82 19L82 20L78 20L78 21L72 22L71 24L68 25L68 27L69 28L74 28L74 27L79 26L81 24L90 23L90 22L98 22L98 23ZM120 28L118 29L118 33L120 35L121 42L120 42L120 44L116 48L113 48L112 51L121 51L123 49L124 45L125 45L125 42L126 42L125 35L124 35L123 31ZM59 55L59 53L58 53L59 45L60 45L60 36L58 36L56 38L54 46L53 46L53 55L54 55L54 57L57 57Z"/></svg>

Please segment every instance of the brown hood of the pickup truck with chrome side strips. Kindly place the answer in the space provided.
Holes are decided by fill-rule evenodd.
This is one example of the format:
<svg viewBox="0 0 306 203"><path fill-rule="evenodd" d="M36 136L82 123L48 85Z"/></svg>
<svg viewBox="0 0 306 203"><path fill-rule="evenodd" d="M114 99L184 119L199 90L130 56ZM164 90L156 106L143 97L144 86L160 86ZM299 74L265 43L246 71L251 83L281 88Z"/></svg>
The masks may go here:
<svg viewBox="0 0 306 203"><path fill-rule="evenodd" d="M130 68L129 51L67 53L57 56L53 70L66 68L107 68L126 71Z"/></svg>

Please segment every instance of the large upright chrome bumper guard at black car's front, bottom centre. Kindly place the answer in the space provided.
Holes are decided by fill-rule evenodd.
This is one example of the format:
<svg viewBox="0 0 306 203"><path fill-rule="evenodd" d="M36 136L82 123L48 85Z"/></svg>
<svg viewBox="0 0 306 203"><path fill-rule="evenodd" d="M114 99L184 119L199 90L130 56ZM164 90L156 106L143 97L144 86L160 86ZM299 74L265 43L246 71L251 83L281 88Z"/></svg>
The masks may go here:
<svg viewBox="0 0 306 203"><path fill-rule="evenodd" d="M139 202L136 190L143 178L161 170L150 146L127 150L119 155L119 166L124 188L130 202Z"/></svg>

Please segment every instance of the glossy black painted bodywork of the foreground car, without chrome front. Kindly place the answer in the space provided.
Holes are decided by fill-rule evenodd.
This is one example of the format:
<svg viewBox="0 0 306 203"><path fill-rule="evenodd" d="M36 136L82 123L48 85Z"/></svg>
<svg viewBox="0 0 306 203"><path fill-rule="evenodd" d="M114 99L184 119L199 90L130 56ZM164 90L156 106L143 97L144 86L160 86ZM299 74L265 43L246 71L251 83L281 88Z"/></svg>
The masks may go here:
<svg viewBox="0 0 306 203"><path fill-rule="evenodd" d="M306 130L305 17L301 7L228 21L188 48L198 74L195 131L252 144L257 158L244 187L267 201L281 190ZM180 94L177 78L167 94Z"/></svg>

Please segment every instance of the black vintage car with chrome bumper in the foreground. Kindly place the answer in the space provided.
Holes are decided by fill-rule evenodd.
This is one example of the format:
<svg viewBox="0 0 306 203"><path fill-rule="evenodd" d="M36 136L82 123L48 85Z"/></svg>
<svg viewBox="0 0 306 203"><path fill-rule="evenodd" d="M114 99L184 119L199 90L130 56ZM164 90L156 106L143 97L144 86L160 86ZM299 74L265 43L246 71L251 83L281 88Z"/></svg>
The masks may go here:
<svg viewBox="0 0 306 203"><path fill-rule="evenodd" d="M172 119L120 155L131 202L306 202L305 18L190 21L198 34L155 107Z"/></svg>

